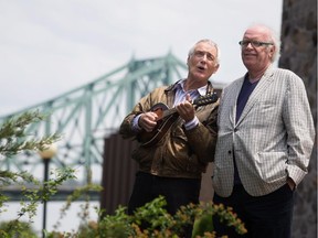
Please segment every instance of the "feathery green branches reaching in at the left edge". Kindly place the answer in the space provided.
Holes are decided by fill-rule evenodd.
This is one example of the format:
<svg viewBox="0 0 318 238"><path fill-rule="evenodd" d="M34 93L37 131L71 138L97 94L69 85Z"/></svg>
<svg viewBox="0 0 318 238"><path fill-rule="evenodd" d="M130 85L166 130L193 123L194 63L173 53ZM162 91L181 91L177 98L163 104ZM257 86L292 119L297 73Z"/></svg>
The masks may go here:
<svg viewBox="0 0 318 238"><path fill-rule="evenodd" d="M47 147L61 139L61 136L53 133L51 136L43 136L35 138L32 134L26 134L26 128L39 121L45 120L46 116L39 111L28 111L21 113L15 118L10 118L0 127L0 159L14 160L17 155L25 151L43 151ZM74 171L70 167L65 170L57 170L55 177L41 184L28 171L12 172L8 170L0 170L0 215L6 212L4 203L9 197L3 194L3 190L9 185L17 185L21 187L23 198L20 204L21 207L17 215L17 219L3 223L0 226L1 237L34 237L31 228L32 218L36 215L36 207L39 203L47 201L53 194L57 192L57 186L64 181L74 178ZM32 185L32 188L28 188ZM20 218L29 217L30 223L22 223ZM26 235L29 234L29 236Z"/></svg>

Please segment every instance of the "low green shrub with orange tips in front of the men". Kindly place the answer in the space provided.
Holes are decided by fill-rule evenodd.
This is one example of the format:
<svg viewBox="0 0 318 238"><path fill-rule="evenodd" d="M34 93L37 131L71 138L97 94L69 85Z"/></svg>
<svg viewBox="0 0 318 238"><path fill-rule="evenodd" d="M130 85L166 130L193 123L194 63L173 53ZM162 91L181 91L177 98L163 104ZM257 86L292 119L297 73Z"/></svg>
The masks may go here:
<svg viewBox="0 0 318 238"><path fill-rule="evenodd" d="M174 216L165 209L166 201L158 197L139 207L132 216L128 216L126 207L118 207L114 215L100 214L98 221L82 224L77 231L51 234L50 238L178 238L183 229L195 220L192 237L216 237L213 232L212 216L218 216L227 226L245 234L244 224L231 208L212 203L189 204L182 206ZM144 228L141 228L144 227Z"/></svg>

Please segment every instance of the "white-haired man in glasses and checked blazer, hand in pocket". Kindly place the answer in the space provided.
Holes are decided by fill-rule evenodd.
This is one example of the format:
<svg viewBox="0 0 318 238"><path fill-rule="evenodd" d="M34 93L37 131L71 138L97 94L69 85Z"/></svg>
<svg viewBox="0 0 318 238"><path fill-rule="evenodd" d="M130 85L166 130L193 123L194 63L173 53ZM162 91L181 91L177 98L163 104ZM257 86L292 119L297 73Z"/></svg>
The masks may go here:
<svg viewBox="0 0 318 238"><path fill-rule="evenodd" d="M279 40L269 28L248 28L240 45L247 73L222 93L213 201L233 207L245 237L288 238L315 138L306 89L296 74L273 67ZM236 236L218 217L214 229Z"/></svg>

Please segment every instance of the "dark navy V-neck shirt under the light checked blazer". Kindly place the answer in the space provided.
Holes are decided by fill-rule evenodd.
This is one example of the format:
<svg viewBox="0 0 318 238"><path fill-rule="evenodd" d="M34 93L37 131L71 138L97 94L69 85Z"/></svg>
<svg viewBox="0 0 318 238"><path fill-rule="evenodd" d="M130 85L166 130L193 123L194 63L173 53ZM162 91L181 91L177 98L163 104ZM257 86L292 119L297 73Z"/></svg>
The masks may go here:
<svg viewBox="0 0 318 238"><path fill-rule="evenodd" d="M235 119L235 123L239 121L242 111L250 98L250 95L253 93L254 88L256 87L257 82L254 82L253 84L248 80L248 74L245 75L244 78L244 83L242 85L240 95L237 97L237 101L236 101L236 119ZM236 167L236 163L235 163L235 158L234 158L234 184L241 184L241 180L239 176L239 172L237 172L237 167Z"/></svg>

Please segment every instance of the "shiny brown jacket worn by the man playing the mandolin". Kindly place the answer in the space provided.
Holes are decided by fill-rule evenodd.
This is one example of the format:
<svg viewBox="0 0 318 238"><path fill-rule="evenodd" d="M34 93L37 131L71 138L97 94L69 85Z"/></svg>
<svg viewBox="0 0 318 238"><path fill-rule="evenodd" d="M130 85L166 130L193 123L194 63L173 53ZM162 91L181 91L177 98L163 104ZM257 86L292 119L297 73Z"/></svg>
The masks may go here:
<svg viewBox="0 0 318 238"><path fill-rule="evenodd" d="M134 118L151 110L158 102L172 108L176 87L177 83L168 87L162 86L141 98L121 122L119 133L123 138L140 141L140 132L132 129ZM206 93L212 91L213 87L209 82ZM158 176L201 178L208 163L213 161L214 156L218 106L219 100L198 107L195 116L200 122L191 130L184 129L179 117L155 145L145 147L144 142L140 142L131 154L139 163L139 170Z"/></svg>

